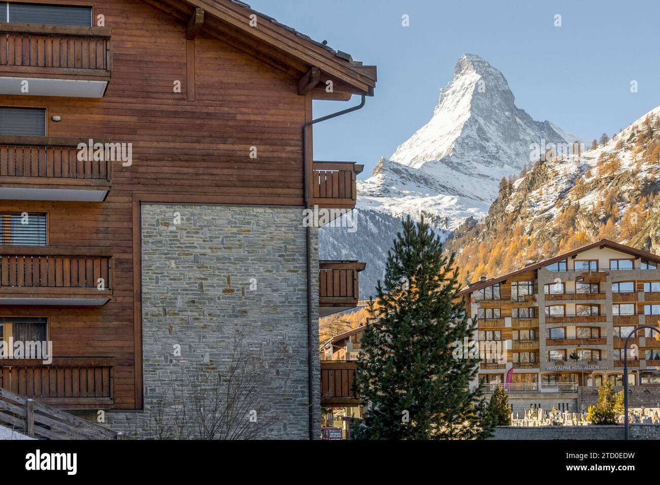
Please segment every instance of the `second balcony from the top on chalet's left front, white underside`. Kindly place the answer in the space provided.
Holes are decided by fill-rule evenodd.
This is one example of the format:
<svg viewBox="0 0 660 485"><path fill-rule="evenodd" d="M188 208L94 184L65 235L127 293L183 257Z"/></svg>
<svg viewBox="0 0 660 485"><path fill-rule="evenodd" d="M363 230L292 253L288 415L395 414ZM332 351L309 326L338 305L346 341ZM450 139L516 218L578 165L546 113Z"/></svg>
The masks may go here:
<svg viewBox="0 0 660 485"><path fill-rule="evenodd" d="M0 137L0 199L102 202L112 187L110 160L78 160L88 140Z"/></svg>

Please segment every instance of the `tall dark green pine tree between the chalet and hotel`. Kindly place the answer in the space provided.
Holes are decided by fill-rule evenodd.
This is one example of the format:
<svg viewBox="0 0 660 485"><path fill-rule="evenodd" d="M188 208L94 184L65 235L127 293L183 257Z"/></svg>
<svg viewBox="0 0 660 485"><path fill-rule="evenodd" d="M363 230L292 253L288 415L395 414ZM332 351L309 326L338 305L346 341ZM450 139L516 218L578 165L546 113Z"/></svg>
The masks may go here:
<svg viewBox="0 0 660 485"><path fill-rule="evenodd" d="M492 416L479 386L479 354L464 358L477 327L457 298L454 255L424 219L407 217L387 253L378 307L362 337L356 391L368 403L362 439L475 439L490 436ZM457 346L457 342L461 346ZM460 350L457 351L457 350ZM467 352L467 350L466 350Z"/></svg>

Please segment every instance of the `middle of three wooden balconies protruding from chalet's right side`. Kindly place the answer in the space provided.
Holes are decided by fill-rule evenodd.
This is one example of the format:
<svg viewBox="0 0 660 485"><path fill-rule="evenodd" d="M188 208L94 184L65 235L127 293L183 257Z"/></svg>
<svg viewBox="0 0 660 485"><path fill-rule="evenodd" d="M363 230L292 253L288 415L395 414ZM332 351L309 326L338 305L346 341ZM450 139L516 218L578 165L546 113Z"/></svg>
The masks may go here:
<svg viewBox="0 0 660 485"><path fill-rule="evenodd" d="M358 273L366 263L358 261L319 261L319 315L358 306Z"/></svg>

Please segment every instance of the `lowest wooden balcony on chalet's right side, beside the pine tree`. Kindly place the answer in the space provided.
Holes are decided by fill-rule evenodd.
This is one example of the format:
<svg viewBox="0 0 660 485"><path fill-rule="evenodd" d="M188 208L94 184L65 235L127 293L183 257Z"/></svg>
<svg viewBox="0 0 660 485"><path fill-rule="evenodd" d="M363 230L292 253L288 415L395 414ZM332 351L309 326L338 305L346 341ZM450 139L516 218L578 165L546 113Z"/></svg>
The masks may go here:
<svg viewBox="0 0 660 485"><path fill-rule="evenodd" d="M353 390L356 362L321 360L321 406L359 406Z"/></svg>

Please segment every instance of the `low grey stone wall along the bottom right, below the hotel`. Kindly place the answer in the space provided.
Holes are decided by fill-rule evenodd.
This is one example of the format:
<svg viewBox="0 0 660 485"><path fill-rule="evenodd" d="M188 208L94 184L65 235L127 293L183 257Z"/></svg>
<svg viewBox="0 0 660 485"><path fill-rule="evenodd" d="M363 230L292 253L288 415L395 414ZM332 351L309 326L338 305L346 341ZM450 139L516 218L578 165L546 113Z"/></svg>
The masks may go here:
<svg viewBox="0 0 660 485"><path fill-rule="evenodd" d="M660 439L660 426L631 424L630 439ZM624 439L624 426L498 426L490 439Z"/></svg>

